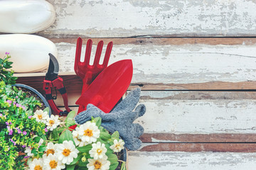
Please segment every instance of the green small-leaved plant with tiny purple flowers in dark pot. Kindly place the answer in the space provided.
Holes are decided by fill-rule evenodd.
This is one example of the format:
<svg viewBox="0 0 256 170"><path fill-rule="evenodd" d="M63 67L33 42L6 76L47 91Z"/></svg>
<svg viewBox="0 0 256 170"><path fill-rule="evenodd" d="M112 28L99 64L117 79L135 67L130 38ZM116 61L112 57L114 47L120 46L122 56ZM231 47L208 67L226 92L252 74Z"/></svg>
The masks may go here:
<svg viewBox="0 0 256 170"><path fill-rule="evenodd" d="M0 169L23 169L24 155L18 152L39 147L41 137L33 136L46 132L44 123L30 117L37 106L41 103L36 98L26 98L23 91L0 81Z"/></svg>

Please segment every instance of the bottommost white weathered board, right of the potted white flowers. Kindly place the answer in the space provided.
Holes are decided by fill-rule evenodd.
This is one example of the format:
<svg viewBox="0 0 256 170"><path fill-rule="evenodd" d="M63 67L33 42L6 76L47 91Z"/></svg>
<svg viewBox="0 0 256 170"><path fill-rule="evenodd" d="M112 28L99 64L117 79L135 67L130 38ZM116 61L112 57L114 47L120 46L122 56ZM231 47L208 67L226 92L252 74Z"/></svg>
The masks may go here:
<svg viewBox="0 0 256 170"><path fill-rule="evenodd" d="M131 152L132 170L254 170L256 153L233 152Z"/></svg>

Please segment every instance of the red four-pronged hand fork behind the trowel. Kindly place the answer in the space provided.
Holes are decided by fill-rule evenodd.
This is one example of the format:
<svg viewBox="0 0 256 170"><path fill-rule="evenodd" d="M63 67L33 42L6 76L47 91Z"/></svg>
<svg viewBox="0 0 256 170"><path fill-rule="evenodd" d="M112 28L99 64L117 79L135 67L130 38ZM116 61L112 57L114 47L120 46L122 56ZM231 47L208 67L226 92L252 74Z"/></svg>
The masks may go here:
<svg viewBox="0 0 256 170"><path fill-rule="evenodd" d="M107 50L105 53L105 58L102 64L100 64L100 55L102 52L103 41L100 40L97 44L97 50L95 54L95 60L92 65L90 65L90 53L92 50L92 40L87 40L86 51L85 51L85 61L80 62L81 50L82 50L82 38L78 38L77 47L75 52L75 73L82 79L82 94L85 93L87 87L92 83L92 81L97 77L103 69L107 67L110 60L110 53L112 50L113 42L109 42L107 45ZM83 106L79 106L78 113L84 111Z"/></svg>

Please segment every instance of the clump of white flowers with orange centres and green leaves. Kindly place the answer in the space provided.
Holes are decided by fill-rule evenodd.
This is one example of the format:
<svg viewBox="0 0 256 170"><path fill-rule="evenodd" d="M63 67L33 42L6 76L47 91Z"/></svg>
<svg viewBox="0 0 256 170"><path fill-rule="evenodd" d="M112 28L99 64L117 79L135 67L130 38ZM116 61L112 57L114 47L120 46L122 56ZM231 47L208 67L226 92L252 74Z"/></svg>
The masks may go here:
<svg viewBox="0 0 256 170"><path fill-rule="evenodd" d="M38 147L26 147L29 169L114 170L122 162L114 152L124 149L124 141L119 139L117 131L110 135L102 128L101 118L92 118L71 130L68 127L75 125L74 111L65 121L60 121L58 115L45 116L48 114L44 112L36 111L31 118L45 124L46 134L32 137ZM125 169L125 162L122 162L122 169Z"/></svg>

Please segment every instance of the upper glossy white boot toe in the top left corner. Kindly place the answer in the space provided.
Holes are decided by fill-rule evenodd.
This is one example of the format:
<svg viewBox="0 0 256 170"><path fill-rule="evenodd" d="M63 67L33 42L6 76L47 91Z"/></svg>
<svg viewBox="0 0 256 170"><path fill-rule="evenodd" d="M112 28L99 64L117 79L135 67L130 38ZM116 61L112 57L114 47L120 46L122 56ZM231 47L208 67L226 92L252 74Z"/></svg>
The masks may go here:
<svg viewBox="0 0 256 170"><path fill-rule="evenodd" d="M45 0L0 0L0 33L36 33L55 21Z"/></svg>

